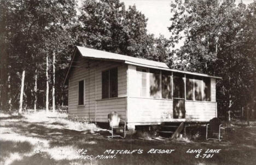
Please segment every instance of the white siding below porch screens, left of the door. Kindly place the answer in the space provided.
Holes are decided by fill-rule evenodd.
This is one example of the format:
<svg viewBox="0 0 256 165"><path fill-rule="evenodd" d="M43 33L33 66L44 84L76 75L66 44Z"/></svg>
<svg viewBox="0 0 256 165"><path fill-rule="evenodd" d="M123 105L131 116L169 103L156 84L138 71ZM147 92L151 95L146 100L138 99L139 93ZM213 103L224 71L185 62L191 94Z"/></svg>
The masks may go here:
<svg viewBox="0 0 256 165"><path fill-rule="evenodd" d="M127 122L165 122L172 119L172 100L127 98Z"/></svg>

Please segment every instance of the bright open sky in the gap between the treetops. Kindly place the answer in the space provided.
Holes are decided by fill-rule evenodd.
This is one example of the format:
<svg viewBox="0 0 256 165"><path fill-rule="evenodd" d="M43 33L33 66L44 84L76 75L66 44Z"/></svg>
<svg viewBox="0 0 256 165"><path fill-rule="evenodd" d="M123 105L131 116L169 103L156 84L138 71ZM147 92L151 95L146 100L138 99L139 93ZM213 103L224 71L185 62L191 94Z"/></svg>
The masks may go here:
<svg viewBox="0 0 256 165"><path fill-rule="evenodd" d="M148 18L147 30L153 33L156 37L159 34L164 35L166 38L170 37L168 28L171 25L171 4L172 0L120 0L124 2L126 8L129 5L136 5L137 10L141 11ZM236 3L241 0L236 0ZM249 4L253 0L243 0L243 3Z"/></svg>

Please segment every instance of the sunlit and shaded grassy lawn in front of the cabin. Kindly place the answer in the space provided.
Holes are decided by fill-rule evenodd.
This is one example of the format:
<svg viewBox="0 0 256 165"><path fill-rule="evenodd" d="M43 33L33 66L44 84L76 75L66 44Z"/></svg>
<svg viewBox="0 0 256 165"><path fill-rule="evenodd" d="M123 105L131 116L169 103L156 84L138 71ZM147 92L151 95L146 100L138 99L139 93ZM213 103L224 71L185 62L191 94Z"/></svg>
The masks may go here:
<svg viewBox="0 0 256 165"><path fill-rule="evenodd" d="M131 135L127 135L126 139L107 139L109 132L106 129L98 128L93 123L71 122L66 117L65 114L46 115L43 112L22 116L0 114L0 164L233 165L256 162L255 123L249 127L235 122L229 124L229 131L222 142L206 141L204 138L167 142L140 140ZM148 153L152 149L174 151L169 154ZM189 149L202 149L202 152L200 155L187 153ZM221 150L211 158L203 158L207 149ZM114 151L108 154L106 150ZM117 150L135 151L120 154Z"/></svg>

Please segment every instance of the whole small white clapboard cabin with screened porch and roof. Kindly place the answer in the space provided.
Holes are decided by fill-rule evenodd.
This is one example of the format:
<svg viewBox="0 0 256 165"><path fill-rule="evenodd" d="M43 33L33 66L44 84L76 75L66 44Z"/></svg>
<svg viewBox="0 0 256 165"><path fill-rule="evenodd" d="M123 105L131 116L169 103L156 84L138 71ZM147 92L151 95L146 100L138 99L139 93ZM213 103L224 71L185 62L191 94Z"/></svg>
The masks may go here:
<svg viewBox="0 0 256 165"><path fill-rule="evenodd" d="M207 122L217 117L216 79L165 63L76 46L66 74L68 115L108 122L117 111L127 127Z"/></svg>

